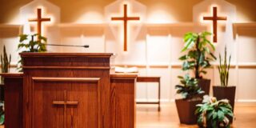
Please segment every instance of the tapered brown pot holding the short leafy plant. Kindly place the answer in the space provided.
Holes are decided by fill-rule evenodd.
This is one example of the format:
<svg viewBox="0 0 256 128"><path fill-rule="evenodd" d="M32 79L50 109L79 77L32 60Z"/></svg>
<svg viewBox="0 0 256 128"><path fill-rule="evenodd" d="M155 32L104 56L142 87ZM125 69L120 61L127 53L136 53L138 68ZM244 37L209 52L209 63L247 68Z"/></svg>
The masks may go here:
<svg viewBox="0 0 256 128"><path fill-rule="evenodd" d="M178 110L178 118L181 123L189 125L197 123L197 116L194 114L194 111L197 109L196 105L202 103L202 100L190 101L176 99L175 103Z"/></svg>

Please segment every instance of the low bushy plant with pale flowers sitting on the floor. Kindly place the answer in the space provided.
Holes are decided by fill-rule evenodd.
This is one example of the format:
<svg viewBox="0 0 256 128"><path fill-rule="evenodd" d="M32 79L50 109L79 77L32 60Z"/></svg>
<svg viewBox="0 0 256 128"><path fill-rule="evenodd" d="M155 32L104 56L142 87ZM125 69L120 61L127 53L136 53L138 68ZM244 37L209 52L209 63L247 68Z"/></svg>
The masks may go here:
<svg viewBox="0 0 256 128"><path fill-rule="evenodd" d="M227 99L217 100L204 96L202 104L197 105L198 126L205 128L230 128L233 118L232 106Z"/></svg>

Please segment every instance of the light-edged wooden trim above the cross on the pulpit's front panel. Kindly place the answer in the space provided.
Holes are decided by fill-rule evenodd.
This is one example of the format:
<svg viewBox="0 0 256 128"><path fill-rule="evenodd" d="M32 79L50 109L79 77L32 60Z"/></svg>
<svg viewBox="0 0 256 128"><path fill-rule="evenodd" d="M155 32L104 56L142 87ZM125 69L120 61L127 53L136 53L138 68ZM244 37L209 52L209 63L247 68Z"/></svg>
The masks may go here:
<svg viewBox="0 0 256 128"><path fill-rule="evenodd" d="M32 77L35 82L98 82L100 78L45 78Z"/></svg>

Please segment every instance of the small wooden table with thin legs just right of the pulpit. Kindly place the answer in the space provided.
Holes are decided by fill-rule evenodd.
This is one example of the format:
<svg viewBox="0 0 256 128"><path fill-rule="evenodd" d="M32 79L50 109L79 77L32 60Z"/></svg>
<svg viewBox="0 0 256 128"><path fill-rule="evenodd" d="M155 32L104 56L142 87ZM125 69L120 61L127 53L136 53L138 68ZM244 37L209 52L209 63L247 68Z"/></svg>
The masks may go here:
<svg viewBox="0 0 256 128"><path fill-rule="evenodd" d="M161 95L161 87L160 87L160 79L161 77L146 77L146 76L138 76L137 82L158 82L158 102L136 102L137 104L158 104L158 111L160 111L160 95Z"/></svg>

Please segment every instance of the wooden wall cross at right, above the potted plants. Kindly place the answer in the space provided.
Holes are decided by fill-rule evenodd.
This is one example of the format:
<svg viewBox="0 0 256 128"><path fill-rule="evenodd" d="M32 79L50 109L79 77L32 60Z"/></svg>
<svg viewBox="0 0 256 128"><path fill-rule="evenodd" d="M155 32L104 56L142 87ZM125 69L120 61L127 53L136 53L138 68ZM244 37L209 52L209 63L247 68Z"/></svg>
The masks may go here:
<svg viewBox="0 0 256 128"><path fill-rule="evenodd" d="M214 42L217 42L217 22L218 20L226 20L226 17L218 17L217 15L217 7L214 6L213 8L213 17L203 17L203 20L211 20L213 21L213 30L214 30Z"/></svg>

